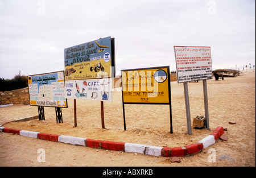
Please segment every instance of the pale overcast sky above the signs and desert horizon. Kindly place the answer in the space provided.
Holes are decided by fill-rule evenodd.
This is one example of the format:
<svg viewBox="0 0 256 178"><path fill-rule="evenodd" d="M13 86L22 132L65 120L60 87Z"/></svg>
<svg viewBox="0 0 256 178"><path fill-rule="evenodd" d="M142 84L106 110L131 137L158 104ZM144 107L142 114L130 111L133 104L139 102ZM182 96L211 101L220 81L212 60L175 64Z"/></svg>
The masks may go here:
<svg viewBox="0 0 256 178"><path fill-rule="evenodd" d="M64 70L64 48L115 38L115 67L170 65L209 46L212 67L255 65L255 0L0 0L0 78Z"/></svg>

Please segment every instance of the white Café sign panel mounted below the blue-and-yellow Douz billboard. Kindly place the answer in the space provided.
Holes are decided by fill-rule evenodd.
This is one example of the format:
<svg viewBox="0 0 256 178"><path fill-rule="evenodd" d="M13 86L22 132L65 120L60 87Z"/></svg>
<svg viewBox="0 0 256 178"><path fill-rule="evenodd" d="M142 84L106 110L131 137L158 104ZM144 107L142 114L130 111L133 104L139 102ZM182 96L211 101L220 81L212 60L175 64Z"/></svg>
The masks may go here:
<svg viewBox="0 0 256 178"><path fill-rule="evenodd" d="M65 81L68 99L112 101L112 78Z"/></svg>

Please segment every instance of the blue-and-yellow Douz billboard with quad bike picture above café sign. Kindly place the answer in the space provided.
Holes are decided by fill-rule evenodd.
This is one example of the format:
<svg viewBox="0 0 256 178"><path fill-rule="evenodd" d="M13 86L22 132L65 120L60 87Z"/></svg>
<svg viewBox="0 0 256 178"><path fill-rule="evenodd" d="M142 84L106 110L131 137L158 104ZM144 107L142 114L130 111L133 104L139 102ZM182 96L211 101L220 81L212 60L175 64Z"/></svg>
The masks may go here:
<svg viewBox="0 0 256 178"><path fill-rule="evenodd" d="M114 77L114 38L106 37L64 49L65 80Z"/></svg>

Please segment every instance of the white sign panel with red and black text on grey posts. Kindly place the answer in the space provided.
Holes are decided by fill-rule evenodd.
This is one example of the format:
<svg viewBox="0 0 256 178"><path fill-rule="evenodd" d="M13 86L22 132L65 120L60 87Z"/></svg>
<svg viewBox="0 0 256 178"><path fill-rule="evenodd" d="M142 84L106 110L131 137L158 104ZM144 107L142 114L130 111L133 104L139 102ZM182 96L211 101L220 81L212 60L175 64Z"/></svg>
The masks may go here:
<svg viewBox="0 0 256 178"><path fill-rule="evenodd" d="M212 79L210 47L175 46L177 82Z"/></svg>

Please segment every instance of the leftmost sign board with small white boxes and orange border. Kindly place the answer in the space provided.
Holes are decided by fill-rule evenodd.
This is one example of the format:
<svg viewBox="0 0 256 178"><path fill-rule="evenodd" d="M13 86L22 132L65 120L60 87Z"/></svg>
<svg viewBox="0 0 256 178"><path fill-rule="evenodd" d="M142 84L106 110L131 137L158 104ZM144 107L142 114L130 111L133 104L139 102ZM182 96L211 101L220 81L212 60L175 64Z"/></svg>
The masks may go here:
<svg viewBox="0 0 256 178"><path fill-rule="evenodd" d="M67 107L64 71L28 76L30 105Z"/></svg>

